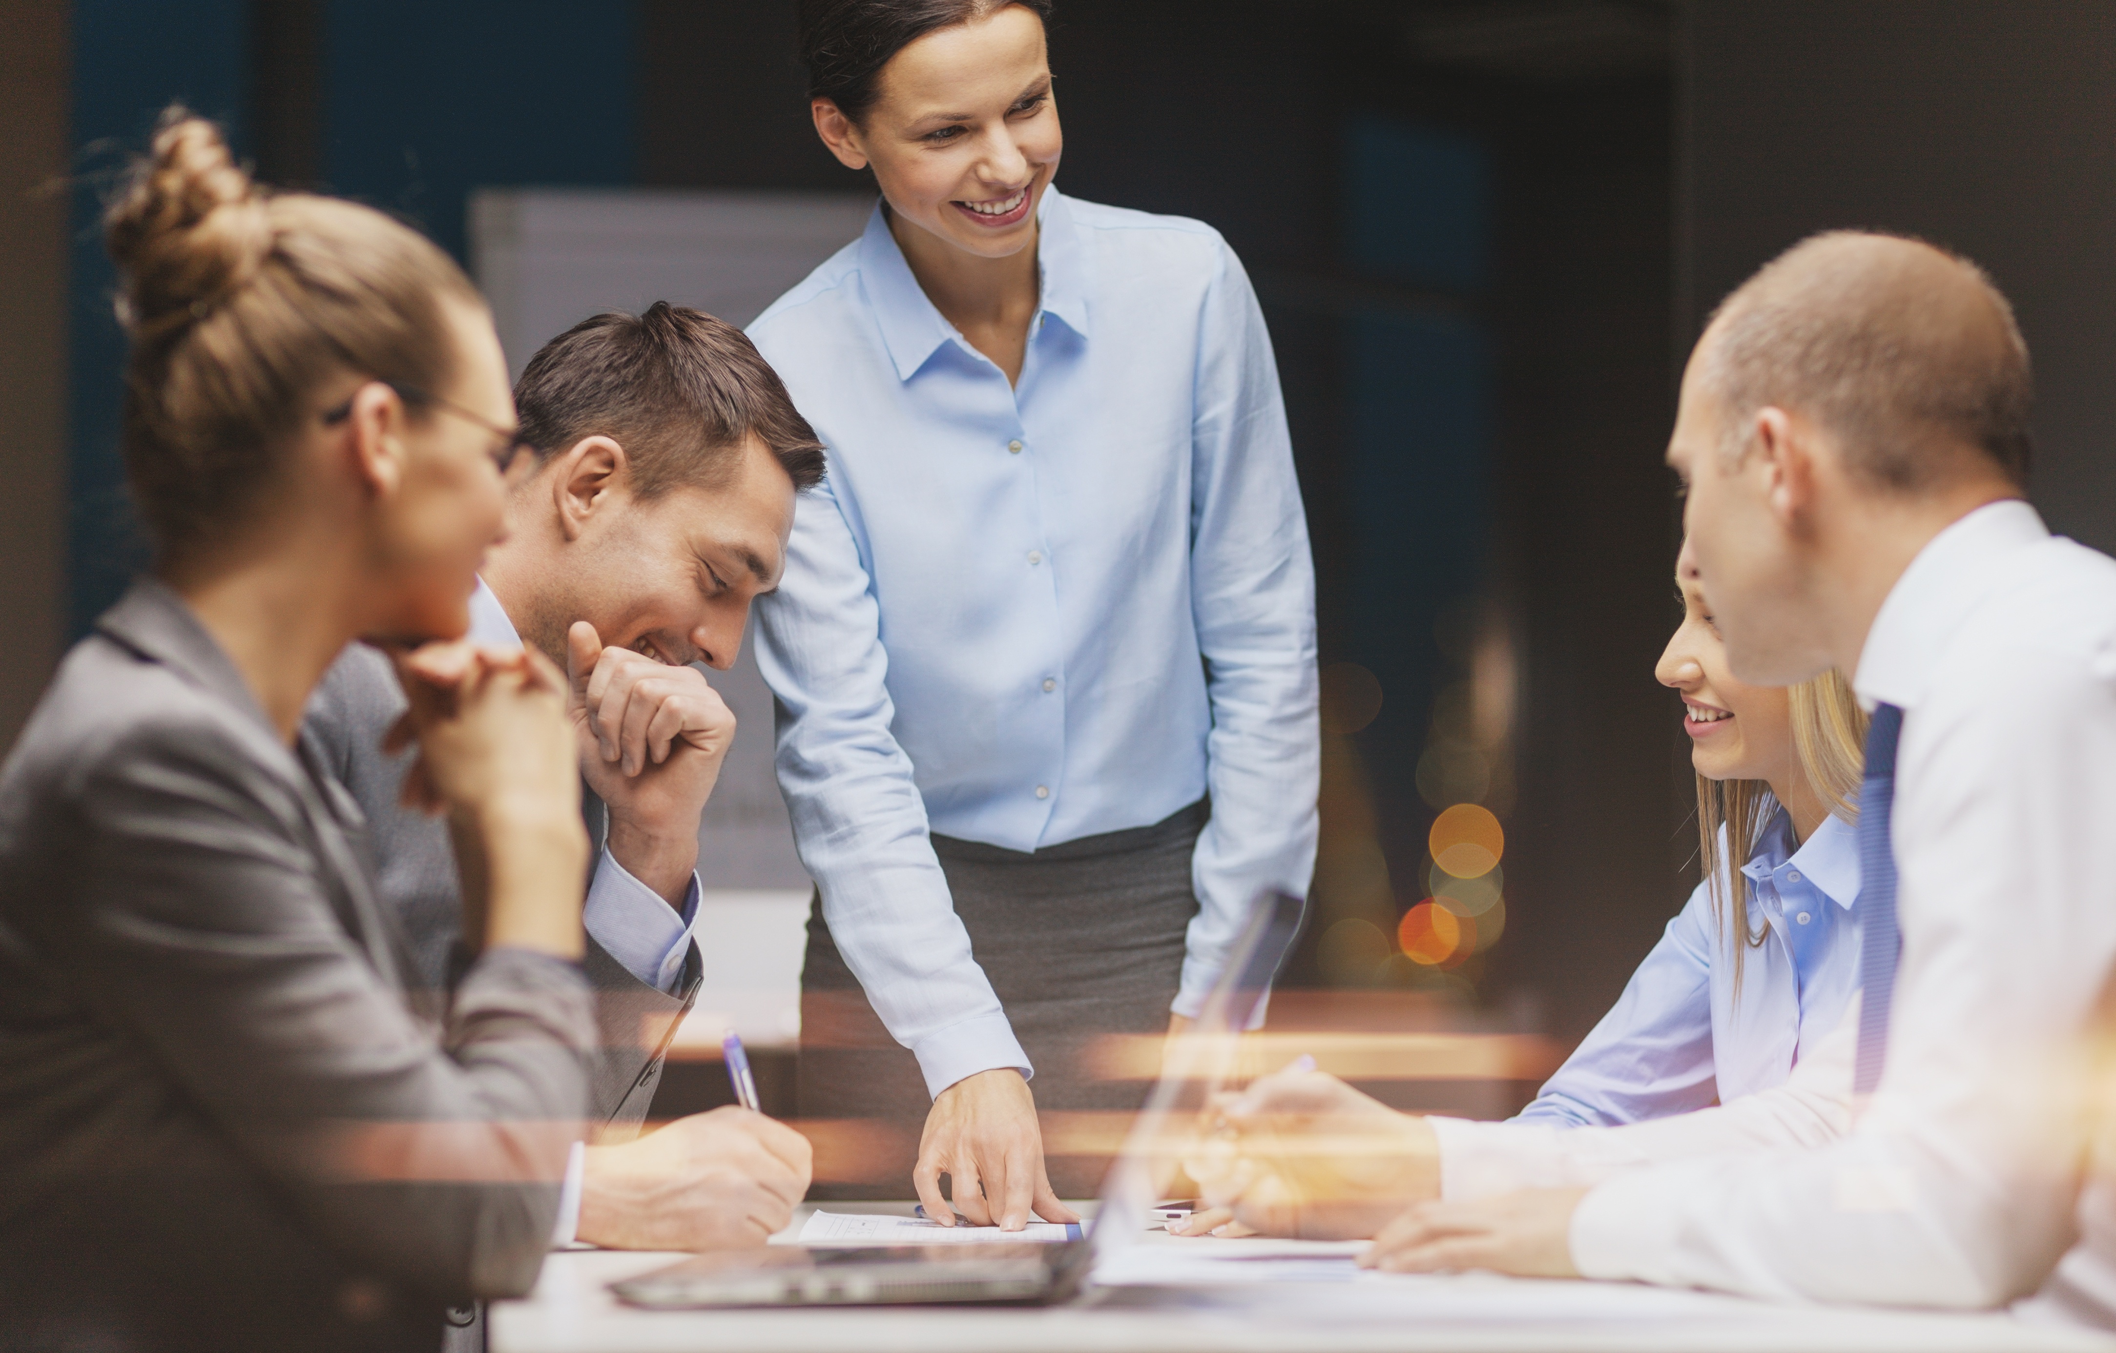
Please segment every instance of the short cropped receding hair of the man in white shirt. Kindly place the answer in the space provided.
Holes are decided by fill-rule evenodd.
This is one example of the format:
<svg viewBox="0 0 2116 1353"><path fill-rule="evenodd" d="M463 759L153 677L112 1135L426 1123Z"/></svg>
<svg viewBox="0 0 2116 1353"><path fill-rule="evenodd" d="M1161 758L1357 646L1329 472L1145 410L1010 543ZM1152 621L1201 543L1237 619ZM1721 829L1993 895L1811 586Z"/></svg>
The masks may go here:
<svg viewBox="0 0 2116 1353"><path fill-rule="evenodd" d="M1981 450L2019 488L2033 442L2027 342L1974 262L1926 241L1828 230L1786 249L1712 313L1703 381L1731 450L1765 406L1845 442L1868 480L1915 493L1947 446Z"/></svg>

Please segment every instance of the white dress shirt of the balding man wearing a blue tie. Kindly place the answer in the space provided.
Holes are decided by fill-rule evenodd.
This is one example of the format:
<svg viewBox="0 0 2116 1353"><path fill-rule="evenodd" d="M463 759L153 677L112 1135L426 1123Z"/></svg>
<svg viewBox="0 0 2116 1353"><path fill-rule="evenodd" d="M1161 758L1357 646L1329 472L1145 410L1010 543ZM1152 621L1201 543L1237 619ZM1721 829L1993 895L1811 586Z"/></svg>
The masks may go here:
<svg viewBox="0 0 2116 1353"><path fill-rule="evenodd" d="M1881 1085L1811 1150L1602 1182L1572 1218L1589 1277L1991 1306L2072 1241L2080 1034L2116 956L2116 562L2027 503L1972 512L1890 592L1854 687L1904 710ZM1841 1101L1849 1046L1835 1065Z"/></svg>

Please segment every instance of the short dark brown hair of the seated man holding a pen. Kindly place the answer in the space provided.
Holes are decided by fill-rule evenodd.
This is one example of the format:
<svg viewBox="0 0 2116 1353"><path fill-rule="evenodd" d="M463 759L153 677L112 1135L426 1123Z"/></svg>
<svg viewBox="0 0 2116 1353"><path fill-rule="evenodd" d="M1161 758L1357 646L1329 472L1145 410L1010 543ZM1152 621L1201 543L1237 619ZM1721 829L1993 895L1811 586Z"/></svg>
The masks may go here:
<svg viewBox="0 0 2116 1353"><path fill-rule="evenodd" d="M618 442L643 501L677 486L726 488L751 433L796 490L823 482L823 444L755 345L667 300L643 315L582 319L546 342L514 385L514 410L546 461L582 438Z"/></svg>

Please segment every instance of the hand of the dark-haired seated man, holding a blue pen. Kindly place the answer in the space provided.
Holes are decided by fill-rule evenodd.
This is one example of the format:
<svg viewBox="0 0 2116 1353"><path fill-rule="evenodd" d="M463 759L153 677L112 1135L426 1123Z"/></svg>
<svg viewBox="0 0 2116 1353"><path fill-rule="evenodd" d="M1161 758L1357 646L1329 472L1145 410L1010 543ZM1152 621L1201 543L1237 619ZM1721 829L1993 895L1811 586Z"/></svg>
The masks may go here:
<svg viewBox="0 0 2116 1353"><path fill-rule="evenodd" d="M590 1146L580 1239L612 1249L762 1245L808 1192L808 1137L747 1108L692 1114L622 1146Z"/></svg>

